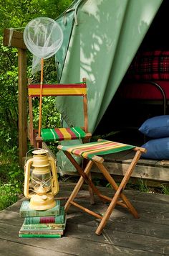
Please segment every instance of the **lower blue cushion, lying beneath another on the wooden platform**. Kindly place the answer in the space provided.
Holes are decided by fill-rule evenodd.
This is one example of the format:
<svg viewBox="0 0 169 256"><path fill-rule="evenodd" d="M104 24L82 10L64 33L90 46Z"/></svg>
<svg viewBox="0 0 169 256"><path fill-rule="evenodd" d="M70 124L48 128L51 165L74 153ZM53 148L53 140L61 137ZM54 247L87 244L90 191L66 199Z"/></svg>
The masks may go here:
<svg viewBox="0 0 169 256"><path fill-rule="evenodd" d="M169 137L149 140L142 147L148 151L142 154L143 158L148 159L169 159Z"/></svg>

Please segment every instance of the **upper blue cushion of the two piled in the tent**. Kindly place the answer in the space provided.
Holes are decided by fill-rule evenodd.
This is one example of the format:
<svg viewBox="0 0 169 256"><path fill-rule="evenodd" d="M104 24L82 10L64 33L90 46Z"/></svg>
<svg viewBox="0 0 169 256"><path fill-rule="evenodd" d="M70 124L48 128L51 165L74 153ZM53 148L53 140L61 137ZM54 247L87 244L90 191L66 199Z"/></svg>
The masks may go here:
<svg viewBox="0 0 169 256"><path fill-rule="evenodd" d="M147 119L139 131L148 137L169 137L169 115L155 116Z"/></svg>

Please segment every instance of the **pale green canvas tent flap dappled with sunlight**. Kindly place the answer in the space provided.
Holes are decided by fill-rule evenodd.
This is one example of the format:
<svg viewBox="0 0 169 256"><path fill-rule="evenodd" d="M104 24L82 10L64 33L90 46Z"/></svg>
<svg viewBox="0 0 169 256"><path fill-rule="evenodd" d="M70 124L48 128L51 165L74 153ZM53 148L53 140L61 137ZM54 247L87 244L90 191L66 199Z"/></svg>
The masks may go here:
<svg viewBox="0 0 169 256"><path fill-rule="evenodd" d="M58 79L77 83L87 78L90 132L105 114L162 2L77 0L58 17L64 32L56 55ZM74 97L57 99L57 109L69 126L82 118L79 104ZM57 160L60 170L70 169L60 152Z"/></svg>

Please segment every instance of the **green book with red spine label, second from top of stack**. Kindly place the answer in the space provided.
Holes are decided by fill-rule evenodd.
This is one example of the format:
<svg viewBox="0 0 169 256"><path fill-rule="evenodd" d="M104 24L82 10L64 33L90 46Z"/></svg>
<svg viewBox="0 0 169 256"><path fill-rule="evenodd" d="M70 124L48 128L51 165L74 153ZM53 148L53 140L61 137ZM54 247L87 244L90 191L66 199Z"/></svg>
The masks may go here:
<svg viewBox="0 0 169 256"><path fill-rule="evenodd" d="M46 223L56 223L64 224L65 211L64 206L60 207L59 215L55 216L38 216L38 217L25 217L24 224L46 224Z"/></svg>

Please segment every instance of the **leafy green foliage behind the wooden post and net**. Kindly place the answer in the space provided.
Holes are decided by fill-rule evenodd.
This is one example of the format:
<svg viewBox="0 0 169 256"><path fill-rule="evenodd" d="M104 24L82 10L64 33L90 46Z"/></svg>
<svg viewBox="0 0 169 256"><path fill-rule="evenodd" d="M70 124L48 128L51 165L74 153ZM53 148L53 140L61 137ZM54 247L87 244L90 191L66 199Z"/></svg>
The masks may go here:
<svg viewBox="0 0 169 256"><path fill-rule="evenodd" d="M4 28L22 28L36 17L55 19L64 12L72 0L0 0L0 210L18 200L23 191L24 173L18 165L18 52L15 48L4 47ZM28 52L28 78L40 81L40 74L31 74L32 55ZM57 70L54 58L45 60L44 83L56 83ZM35 110L34 122L38 119ZM54 100L44 99L43 126L60 125L60 114ZM54 116L54 117L52 117Z"/></svg>

